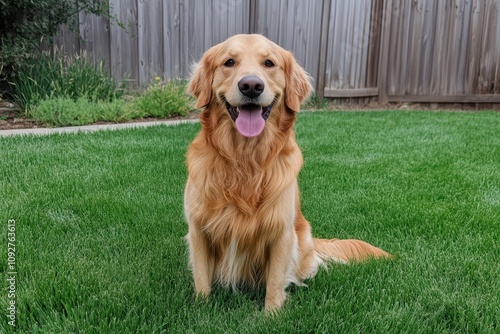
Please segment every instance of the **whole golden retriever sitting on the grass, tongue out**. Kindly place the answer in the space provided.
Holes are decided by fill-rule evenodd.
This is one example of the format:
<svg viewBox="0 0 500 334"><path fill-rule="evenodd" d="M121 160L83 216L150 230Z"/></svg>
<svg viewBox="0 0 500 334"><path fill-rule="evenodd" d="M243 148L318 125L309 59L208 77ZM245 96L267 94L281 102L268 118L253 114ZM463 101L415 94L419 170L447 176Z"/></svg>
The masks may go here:
<svg viewBox="0 0 500 334"><path fill-rule="evenodd" d="M262 284L265 309L275 310L289 283L300 285L323 263L390 256L359 240L312 238L293 131L312 87L290 52L261 35L233 36L203 55L187 91L203 108L184 194L198 296L213 283Z"/></svg>

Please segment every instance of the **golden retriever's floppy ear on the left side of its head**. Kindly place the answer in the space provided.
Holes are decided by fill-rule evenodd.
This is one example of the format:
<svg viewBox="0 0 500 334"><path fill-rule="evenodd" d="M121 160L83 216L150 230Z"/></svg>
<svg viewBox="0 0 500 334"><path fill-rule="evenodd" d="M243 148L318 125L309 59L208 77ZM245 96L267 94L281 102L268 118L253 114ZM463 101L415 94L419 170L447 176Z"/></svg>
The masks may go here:
<svg viewBox="0 0 500 334"><path fill-rule="evenodd" d="M211 48L194 64L186 91L196 98L196 108L206 107L212 98L215 49Z"/></svg>

